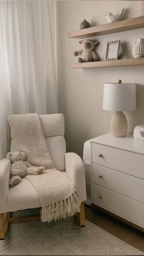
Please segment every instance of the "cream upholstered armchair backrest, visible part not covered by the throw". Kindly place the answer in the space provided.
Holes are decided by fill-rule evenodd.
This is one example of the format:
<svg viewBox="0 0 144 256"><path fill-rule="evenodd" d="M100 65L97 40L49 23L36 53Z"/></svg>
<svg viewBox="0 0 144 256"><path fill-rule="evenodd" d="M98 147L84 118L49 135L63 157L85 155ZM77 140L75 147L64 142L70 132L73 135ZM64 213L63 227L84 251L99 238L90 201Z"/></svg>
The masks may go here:
<svg viewBox="0 0 144 256"><path fill-rule="evenodd" d="M43 133L48 144L54 166L58 170L65 170L65 122L63 114L39 115ZM10 128L8 130L8 150L10 151Z"/></svg>

